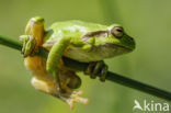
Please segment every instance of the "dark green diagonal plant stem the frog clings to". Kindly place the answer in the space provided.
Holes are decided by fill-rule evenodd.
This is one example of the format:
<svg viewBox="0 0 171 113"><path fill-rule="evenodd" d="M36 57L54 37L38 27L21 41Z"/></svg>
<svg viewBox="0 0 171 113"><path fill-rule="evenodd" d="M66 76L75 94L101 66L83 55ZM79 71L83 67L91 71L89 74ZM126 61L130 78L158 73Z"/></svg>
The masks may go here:
<svg viewBox="0 0 171 113"><path fill-rule="evenodd" d="M18 50L21 50L21 48L22 48L22 44L20 42L9 38L7 36L0 36L0 44L4 45L4 46L9 46L11 48L15 48ZM39 53L37 53L36 55L39 57L43 57L43 58L47 58L48 52L46 49L39 47ZM88 67L88 64L86 64L86 63L79 63L79 61L76 61L76 60L72 60L72 59L69 59L66 57L62 57L62 59L67 67L72 68L75 70L84 71ZM125 87L129 87L129 88L142 91L142 92L156 95L158 98L171 101L171 92L167 92L164 90L141 83L139 81L119 76L114 72L109 71L106 80L117 82Z"/></svg>

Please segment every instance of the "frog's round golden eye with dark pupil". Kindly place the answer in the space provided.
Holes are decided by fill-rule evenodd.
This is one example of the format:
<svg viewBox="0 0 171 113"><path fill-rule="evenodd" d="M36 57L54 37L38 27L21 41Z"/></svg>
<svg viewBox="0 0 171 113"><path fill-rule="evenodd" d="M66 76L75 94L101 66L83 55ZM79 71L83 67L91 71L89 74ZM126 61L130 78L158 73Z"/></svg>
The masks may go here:
<svg viewBox="0 0 171 113"><path fill-rule="evenodd" d="M114 26L111 30L112 35L114 35L115 37L122 37L124 35L124 30L122 26Z"/></svg>

